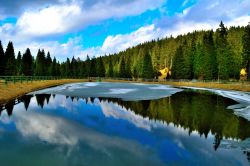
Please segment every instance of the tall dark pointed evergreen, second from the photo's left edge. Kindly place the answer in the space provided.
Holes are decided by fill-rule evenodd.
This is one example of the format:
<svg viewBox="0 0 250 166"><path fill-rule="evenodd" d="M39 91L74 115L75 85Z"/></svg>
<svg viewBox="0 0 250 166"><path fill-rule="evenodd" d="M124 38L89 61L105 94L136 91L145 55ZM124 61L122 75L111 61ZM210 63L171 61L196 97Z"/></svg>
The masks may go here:
<svg viewBox="0 0 250 166"><path fill-rule="evenodd" d="M13 43L9 42L7 49L5 51L5 75L15 75L16 74L16 59Z"/></svg>

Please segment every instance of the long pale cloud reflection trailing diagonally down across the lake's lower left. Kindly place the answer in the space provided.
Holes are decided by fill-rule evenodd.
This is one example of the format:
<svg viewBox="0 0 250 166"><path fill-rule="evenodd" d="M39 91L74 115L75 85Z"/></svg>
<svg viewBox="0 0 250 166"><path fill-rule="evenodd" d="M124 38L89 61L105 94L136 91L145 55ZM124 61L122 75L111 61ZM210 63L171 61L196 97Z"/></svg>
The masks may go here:
<svg viewBox="0 0 250 166"><path fill-rule="evenodd" d="M81 142L107 156L111 155L110 157L118 151L129 153L138 159L151 155L160 163L158 156L151 154L152 149L136 141L108 136L64 118L46 113L27 112L15 114L14 121L23 137L38 138L49 144L66 145L72 149L78 148Z"/></svg>

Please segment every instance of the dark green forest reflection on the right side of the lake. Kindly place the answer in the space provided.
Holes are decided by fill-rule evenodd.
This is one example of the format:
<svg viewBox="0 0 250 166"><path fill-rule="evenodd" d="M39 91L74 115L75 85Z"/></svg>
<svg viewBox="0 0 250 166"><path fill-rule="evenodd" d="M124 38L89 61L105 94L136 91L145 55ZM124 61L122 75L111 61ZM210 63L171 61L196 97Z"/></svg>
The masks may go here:
<svg viewBox="0 0 250 166"><path fill-rule="evenodd" d="M196 92L177 93L171 97L151 101L122 101L109 99L135 113L150 119L162 120L187 129L189 133L198 131L206 138L211 132L216 136L214 148L220 140L234 138L244 140L250 137L250 122L237 117L232 110L226 109L236 104L231 99L212 94Z"/></svg>

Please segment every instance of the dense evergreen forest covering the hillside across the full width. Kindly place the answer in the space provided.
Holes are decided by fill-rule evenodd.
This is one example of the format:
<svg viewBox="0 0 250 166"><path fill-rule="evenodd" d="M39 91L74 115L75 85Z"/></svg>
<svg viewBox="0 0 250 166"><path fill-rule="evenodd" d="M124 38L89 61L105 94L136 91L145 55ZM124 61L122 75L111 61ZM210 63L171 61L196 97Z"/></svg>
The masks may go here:
<svg viewBox="0 0 250 166"><path fill-rule="evenodd" d="M240 70L250 73L250 24L216 31L194 31L128 48L125 51L86 60L67 58L59 63L50 52L39 49L32 56L27 48L15 53L12 42L4 51L0 41L0 75L156 78L159 70L171 68L172 79L239 79Z"/></svg>

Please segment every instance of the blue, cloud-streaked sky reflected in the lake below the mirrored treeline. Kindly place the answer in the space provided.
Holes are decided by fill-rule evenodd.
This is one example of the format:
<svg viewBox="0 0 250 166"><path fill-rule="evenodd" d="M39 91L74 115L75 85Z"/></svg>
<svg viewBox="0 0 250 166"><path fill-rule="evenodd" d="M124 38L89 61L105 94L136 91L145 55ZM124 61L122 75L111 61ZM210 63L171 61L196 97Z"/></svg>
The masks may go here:
<svg viewBox="0 0 250 166"><path fill-rule="evenodd" d="M91 102L89 99L74 99L72 102L71 98L57 95L54 99L51 97L49 104L41 109L33 97L27 112L20 103L15 106L10 119L5 111L0 119L3 137L6 133L18 131L11 136L14 141L22 142L17 151L35 151L34 148L40 150L45 146L47 153L43 155L54 155L53 160L63 158L67 161L65 165L74 165L73 159L92 165L102 162L108 165L138 162L143 165L247 163L238 149L214 151L211 134L207 139L196 132L189 136L183 128L143 118L107 100L95 99ZM18 142L13 142L13 145L16 144ZM64 151L63 147L68 150ZM0 153L3 152L0 150ZM40 151L33 153L35 155ZM95 159L100 156L99 160ZM127 163L121 163L121 160Z"/></svg>

